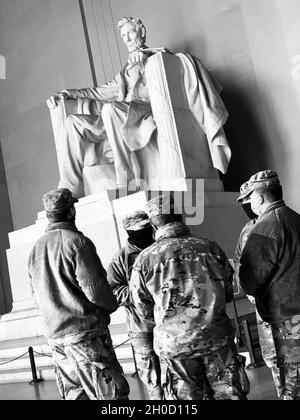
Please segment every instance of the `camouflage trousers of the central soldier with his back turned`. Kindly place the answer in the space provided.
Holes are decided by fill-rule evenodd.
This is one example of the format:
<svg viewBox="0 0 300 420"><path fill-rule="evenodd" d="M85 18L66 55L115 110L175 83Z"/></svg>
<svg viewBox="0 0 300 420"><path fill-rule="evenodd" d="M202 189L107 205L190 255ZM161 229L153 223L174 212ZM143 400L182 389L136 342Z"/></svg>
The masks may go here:
<svg viewBox="0 0 300 420"><path fill-rule="evenodd" d="M160 362L166 400L246 400L250 391L245 358L234 343L206 356Z"/></svg>

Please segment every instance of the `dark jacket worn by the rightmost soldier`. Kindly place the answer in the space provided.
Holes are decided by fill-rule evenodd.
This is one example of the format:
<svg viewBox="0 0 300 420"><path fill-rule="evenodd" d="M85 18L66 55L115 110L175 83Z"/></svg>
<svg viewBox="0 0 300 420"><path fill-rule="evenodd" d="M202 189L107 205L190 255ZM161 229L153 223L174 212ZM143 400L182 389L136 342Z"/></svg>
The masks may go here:
<svg viewBox="0 0 300 420"><path fill-rule="evenodd" d="M300 316L300 215L284 201L270 205L251 229L240 281L264 321Z"/></svg>

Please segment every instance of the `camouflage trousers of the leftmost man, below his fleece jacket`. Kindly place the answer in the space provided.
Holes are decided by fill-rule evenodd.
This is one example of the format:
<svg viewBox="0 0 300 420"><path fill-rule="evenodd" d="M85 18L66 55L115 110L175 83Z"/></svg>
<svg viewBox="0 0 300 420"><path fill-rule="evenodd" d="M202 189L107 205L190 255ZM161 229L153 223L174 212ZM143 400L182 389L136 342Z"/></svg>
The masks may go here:
<svg viewBox="0 0 300 420"><path fill-rule="evenodd" d="M80 341L49 341L63 400L126 400L129 386L109 332L86 333Z"/></svg>

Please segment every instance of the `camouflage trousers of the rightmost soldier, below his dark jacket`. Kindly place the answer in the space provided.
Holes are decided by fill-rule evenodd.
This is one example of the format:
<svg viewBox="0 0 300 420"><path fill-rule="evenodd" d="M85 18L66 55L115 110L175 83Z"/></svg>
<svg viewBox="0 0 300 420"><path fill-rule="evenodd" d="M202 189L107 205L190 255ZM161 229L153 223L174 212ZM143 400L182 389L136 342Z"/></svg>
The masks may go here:
<svg viewBox="0 0 300 420"><path fill-rule="evenodd" d="M256 316L262 356L271 369L278 397L300 399L300 320L270 325L258 313Z"/></svg>

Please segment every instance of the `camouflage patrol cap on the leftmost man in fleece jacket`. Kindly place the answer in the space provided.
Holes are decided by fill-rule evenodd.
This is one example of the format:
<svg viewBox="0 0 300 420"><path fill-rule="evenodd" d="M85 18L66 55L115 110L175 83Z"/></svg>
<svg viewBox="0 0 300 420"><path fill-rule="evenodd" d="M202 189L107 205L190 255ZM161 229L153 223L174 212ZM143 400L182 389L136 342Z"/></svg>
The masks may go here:
<svg viewBox="0 0 300 420"><path fill-rule="evenodd" d="M47 213L63 213L77 201L67 188L52 190L43 195L43 205Z"/></svg>

